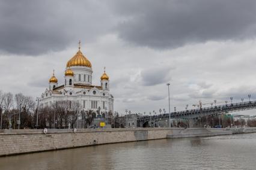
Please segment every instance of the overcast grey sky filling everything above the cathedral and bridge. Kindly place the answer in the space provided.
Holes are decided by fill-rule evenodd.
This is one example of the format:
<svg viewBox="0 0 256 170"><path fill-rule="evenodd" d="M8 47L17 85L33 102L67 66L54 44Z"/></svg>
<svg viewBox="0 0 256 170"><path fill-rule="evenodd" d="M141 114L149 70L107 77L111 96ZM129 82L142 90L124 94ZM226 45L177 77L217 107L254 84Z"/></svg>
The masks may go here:
<svg viewBox="0 0 256 170"><path fill-rule="evenodd" d="M0 89L59 84L78 50L103 67L120 113L256 98L256 1L0 1ZM234 102L233 101L233 102ZM206 105L207 106L207 105Z"/></svg>

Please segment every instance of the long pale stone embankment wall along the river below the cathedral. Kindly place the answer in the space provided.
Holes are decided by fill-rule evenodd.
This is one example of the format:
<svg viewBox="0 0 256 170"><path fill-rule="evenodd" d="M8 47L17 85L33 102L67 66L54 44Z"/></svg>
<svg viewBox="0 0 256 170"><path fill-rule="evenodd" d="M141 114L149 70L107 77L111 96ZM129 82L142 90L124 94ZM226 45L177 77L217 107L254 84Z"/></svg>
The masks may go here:
<svg viewBox="0 0 256 170"><path fill-rule="evenodd" d="M1 130L0 156L117 142L163 139L183 128Z"/></svg>

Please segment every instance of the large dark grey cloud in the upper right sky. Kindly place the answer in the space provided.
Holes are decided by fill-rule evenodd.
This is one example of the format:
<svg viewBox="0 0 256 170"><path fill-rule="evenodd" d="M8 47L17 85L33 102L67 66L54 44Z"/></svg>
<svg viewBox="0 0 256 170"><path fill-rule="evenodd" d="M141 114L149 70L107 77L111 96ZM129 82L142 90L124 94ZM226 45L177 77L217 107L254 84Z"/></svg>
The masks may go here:
<svg viewBox="0 0 256 170"><path fill-rule="evenodd" d="M210 40L243 40L256 33L256 1L118 1L117 26L125 41L175 48Z"/></svg>

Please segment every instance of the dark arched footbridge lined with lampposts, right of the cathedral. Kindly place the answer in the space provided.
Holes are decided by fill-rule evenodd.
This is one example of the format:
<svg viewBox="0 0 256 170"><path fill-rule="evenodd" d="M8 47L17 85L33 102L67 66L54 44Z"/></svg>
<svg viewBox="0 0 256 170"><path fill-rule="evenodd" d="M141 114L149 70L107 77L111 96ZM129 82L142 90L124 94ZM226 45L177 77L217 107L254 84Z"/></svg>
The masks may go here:
<svg viewBox="0 0 256 170"><path fill-rule="evenodd" d="M205 116L218 116L242 110L252 110L256 108L256 101L237 102L234 104L216 105L213 107L204 107L185 111L175 111L171 113L171 119L185 119L197 120ZM143 127L148 122L159 122L161 120L168 120L169 113L157 114L154 116L139 116L137 125Z"/></svg>

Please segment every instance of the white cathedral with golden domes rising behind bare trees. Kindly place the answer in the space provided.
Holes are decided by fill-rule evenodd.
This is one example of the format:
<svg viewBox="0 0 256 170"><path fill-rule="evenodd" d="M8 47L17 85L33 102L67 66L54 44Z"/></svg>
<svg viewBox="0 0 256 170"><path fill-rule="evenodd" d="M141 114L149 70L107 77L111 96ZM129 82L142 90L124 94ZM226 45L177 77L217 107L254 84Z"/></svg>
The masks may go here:
<svg viewBox="0 0 256 170"><path fill-rule="evenodd" d="M49 87L41 94L40 107L52 105L56 101L78 101L81 110L93 111L100 115L113 113L114 97L109 93L109 77L105 70L100 77L100 86L93 85L91 62L79 50L68 62L64 73L64 84L58 86L54 75L49 80Z"/></svg>

